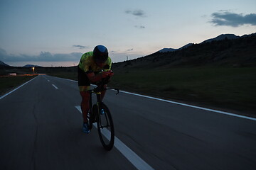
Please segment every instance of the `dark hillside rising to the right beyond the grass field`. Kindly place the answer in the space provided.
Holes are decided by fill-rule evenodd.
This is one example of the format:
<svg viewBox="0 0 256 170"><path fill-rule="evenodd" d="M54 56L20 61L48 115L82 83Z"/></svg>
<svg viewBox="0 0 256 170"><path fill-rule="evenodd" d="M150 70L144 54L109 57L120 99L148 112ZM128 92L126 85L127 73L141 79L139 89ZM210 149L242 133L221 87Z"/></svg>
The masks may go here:
<svg viewBox="0 0 256 170"><path fill-rule="evenodd" d="M221 35L208 42L188 45L181 50L155 52L134 60L119 62L113 64L113 67L123 69L124 67L169 68L206 65L255 67L256 33L241 37Z"/></svg>

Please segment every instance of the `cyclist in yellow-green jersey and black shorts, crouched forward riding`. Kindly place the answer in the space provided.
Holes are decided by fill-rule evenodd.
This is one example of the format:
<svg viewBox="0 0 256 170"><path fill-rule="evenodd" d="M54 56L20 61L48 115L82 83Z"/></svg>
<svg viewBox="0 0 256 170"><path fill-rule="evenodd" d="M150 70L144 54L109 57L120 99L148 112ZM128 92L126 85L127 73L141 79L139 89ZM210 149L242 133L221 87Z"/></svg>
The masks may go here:
<svg viewBox="0 0 256 170"><path fill-rule="evenodd" d="M113 72L110 70L112 61L108 56L107 47L97 45L93 52L86 52L82 55L78 64L78 86L82 96L81 110L83 117L82 131L89 133L87 123L87 113L90 109L90 84L96 84L106 77L112 77ZM107 84L105 84L105 88ZM104 98L106 91L101 91L101 100Z"/></svg>

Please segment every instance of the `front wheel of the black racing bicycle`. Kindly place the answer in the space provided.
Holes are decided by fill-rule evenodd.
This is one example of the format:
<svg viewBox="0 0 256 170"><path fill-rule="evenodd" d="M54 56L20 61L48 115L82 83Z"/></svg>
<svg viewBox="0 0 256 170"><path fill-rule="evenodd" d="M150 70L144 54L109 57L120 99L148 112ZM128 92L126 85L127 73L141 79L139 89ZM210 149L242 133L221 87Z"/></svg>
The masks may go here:
<svg viewBox="0 0 256 170"><path fill-rule="evenodd" d="M100 106L99 111L103 109L105 113L98 113L97 130L103 147L110 151L114 146L114 124L107 106L104 103L101 103Z"/></svg>

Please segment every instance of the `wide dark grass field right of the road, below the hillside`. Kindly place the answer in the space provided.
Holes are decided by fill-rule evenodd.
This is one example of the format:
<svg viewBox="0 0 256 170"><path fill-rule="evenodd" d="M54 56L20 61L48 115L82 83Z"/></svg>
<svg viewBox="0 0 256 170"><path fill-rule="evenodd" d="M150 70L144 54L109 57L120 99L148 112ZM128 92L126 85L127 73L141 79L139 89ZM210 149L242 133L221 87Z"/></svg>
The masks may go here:
<svg viewBox="0 0 256 170"><path fill-rule="evenodd" d="M110 86L161 98L255 113L255 67L117 70Z"/></svg>

